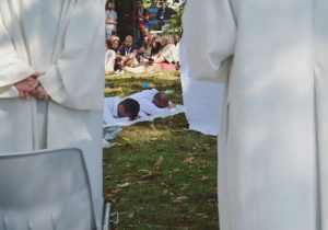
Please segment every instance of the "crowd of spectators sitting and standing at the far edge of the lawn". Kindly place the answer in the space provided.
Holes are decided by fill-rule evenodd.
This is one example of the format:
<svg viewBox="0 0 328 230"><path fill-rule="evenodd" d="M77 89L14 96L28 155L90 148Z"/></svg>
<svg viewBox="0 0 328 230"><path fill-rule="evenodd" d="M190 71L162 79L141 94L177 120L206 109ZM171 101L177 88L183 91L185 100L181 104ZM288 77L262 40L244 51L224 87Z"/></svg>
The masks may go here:
<svg viewBox="0 0 328 230"><path fill-rule="evenodd" d="M106 44L105 72L142 73L179 68L179 36L161 35L163 26L169 22L174 10L166 5L166 0L151 0L149 8L137 1L134 12L134 37L128 35L121 42L117 36L117 12L113 1L106 3Z"/></svg>

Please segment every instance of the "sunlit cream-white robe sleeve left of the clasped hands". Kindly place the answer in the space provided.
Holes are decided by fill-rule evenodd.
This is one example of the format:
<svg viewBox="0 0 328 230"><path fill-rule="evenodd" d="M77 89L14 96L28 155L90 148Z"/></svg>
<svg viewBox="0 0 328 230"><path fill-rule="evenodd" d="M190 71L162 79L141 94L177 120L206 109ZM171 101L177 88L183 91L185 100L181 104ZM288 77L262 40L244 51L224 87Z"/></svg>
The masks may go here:
<svg viewBox="0 0 328 230"><path fill-rule="evenodd" d="M34 72L30 65L19 57L10 33L0 16L0 99L19 96L13 83Z"/></svg>

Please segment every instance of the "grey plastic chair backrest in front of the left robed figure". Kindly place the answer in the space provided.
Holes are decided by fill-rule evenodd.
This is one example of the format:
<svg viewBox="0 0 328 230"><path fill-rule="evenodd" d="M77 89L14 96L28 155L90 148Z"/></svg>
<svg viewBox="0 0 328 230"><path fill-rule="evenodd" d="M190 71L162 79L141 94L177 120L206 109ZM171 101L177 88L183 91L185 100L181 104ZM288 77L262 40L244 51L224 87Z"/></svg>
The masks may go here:
<svg viewBox="0 0 328 230"><path fill-rule="evenodd" d="M79 149L0 156L0 230L94 230Z"/></svg>

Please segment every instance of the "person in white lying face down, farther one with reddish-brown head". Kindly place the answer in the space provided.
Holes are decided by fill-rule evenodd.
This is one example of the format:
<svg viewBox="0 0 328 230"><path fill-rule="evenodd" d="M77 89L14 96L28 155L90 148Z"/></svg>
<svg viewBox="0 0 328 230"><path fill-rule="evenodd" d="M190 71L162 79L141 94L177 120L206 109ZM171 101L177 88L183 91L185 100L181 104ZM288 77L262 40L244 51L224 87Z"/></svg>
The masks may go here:
<svg viewBox="0 0 328 230"><path fill-rule="evenodd" d="M156 114L167 114L175 104L168 100L164 92L159 92L156 89L143 90L128 96L140 104L140 115L151 116ZM142 114L143 113L143 114Z"/></svg>

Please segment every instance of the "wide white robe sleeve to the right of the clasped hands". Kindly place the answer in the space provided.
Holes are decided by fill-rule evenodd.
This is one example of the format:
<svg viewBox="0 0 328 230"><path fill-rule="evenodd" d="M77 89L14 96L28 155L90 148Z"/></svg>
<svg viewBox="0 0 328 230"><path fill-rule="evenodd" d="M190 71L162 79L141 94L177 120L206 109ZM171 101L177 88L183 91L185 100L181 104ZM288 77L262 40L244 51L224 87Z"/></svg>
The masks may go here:
<svg viewBox="0 0 328 230"><path fill-rule="evenodd" d="M104 96L105 12L102 0L78 0L61 50L39 78L52 101L72 110L102 110ZM58 41L59 43L59 41Z"/></svg>

